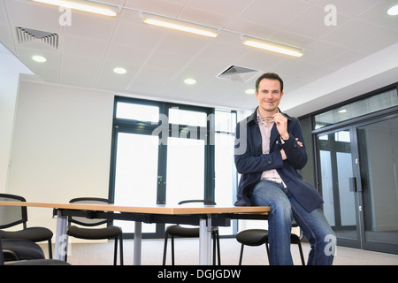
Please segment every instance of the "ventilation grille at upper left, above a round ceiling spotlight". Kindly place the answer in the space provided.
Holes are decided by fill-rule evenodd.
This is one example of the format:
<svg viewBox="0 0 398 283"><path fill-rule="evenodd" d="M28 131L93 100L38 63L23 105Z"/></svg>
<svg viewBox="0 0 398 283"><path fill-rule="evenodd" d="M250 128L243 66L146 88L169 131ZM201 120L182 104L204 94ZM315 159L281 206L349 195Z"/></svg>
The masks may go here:
<svg viewBox="0 0 398 283"><path fill-rule="evenodd" d="M58 34L43 32L41 30L30 29L26 27L17 27L19 44L29 42L44 43L51 48L58 48Z"/></svg>

